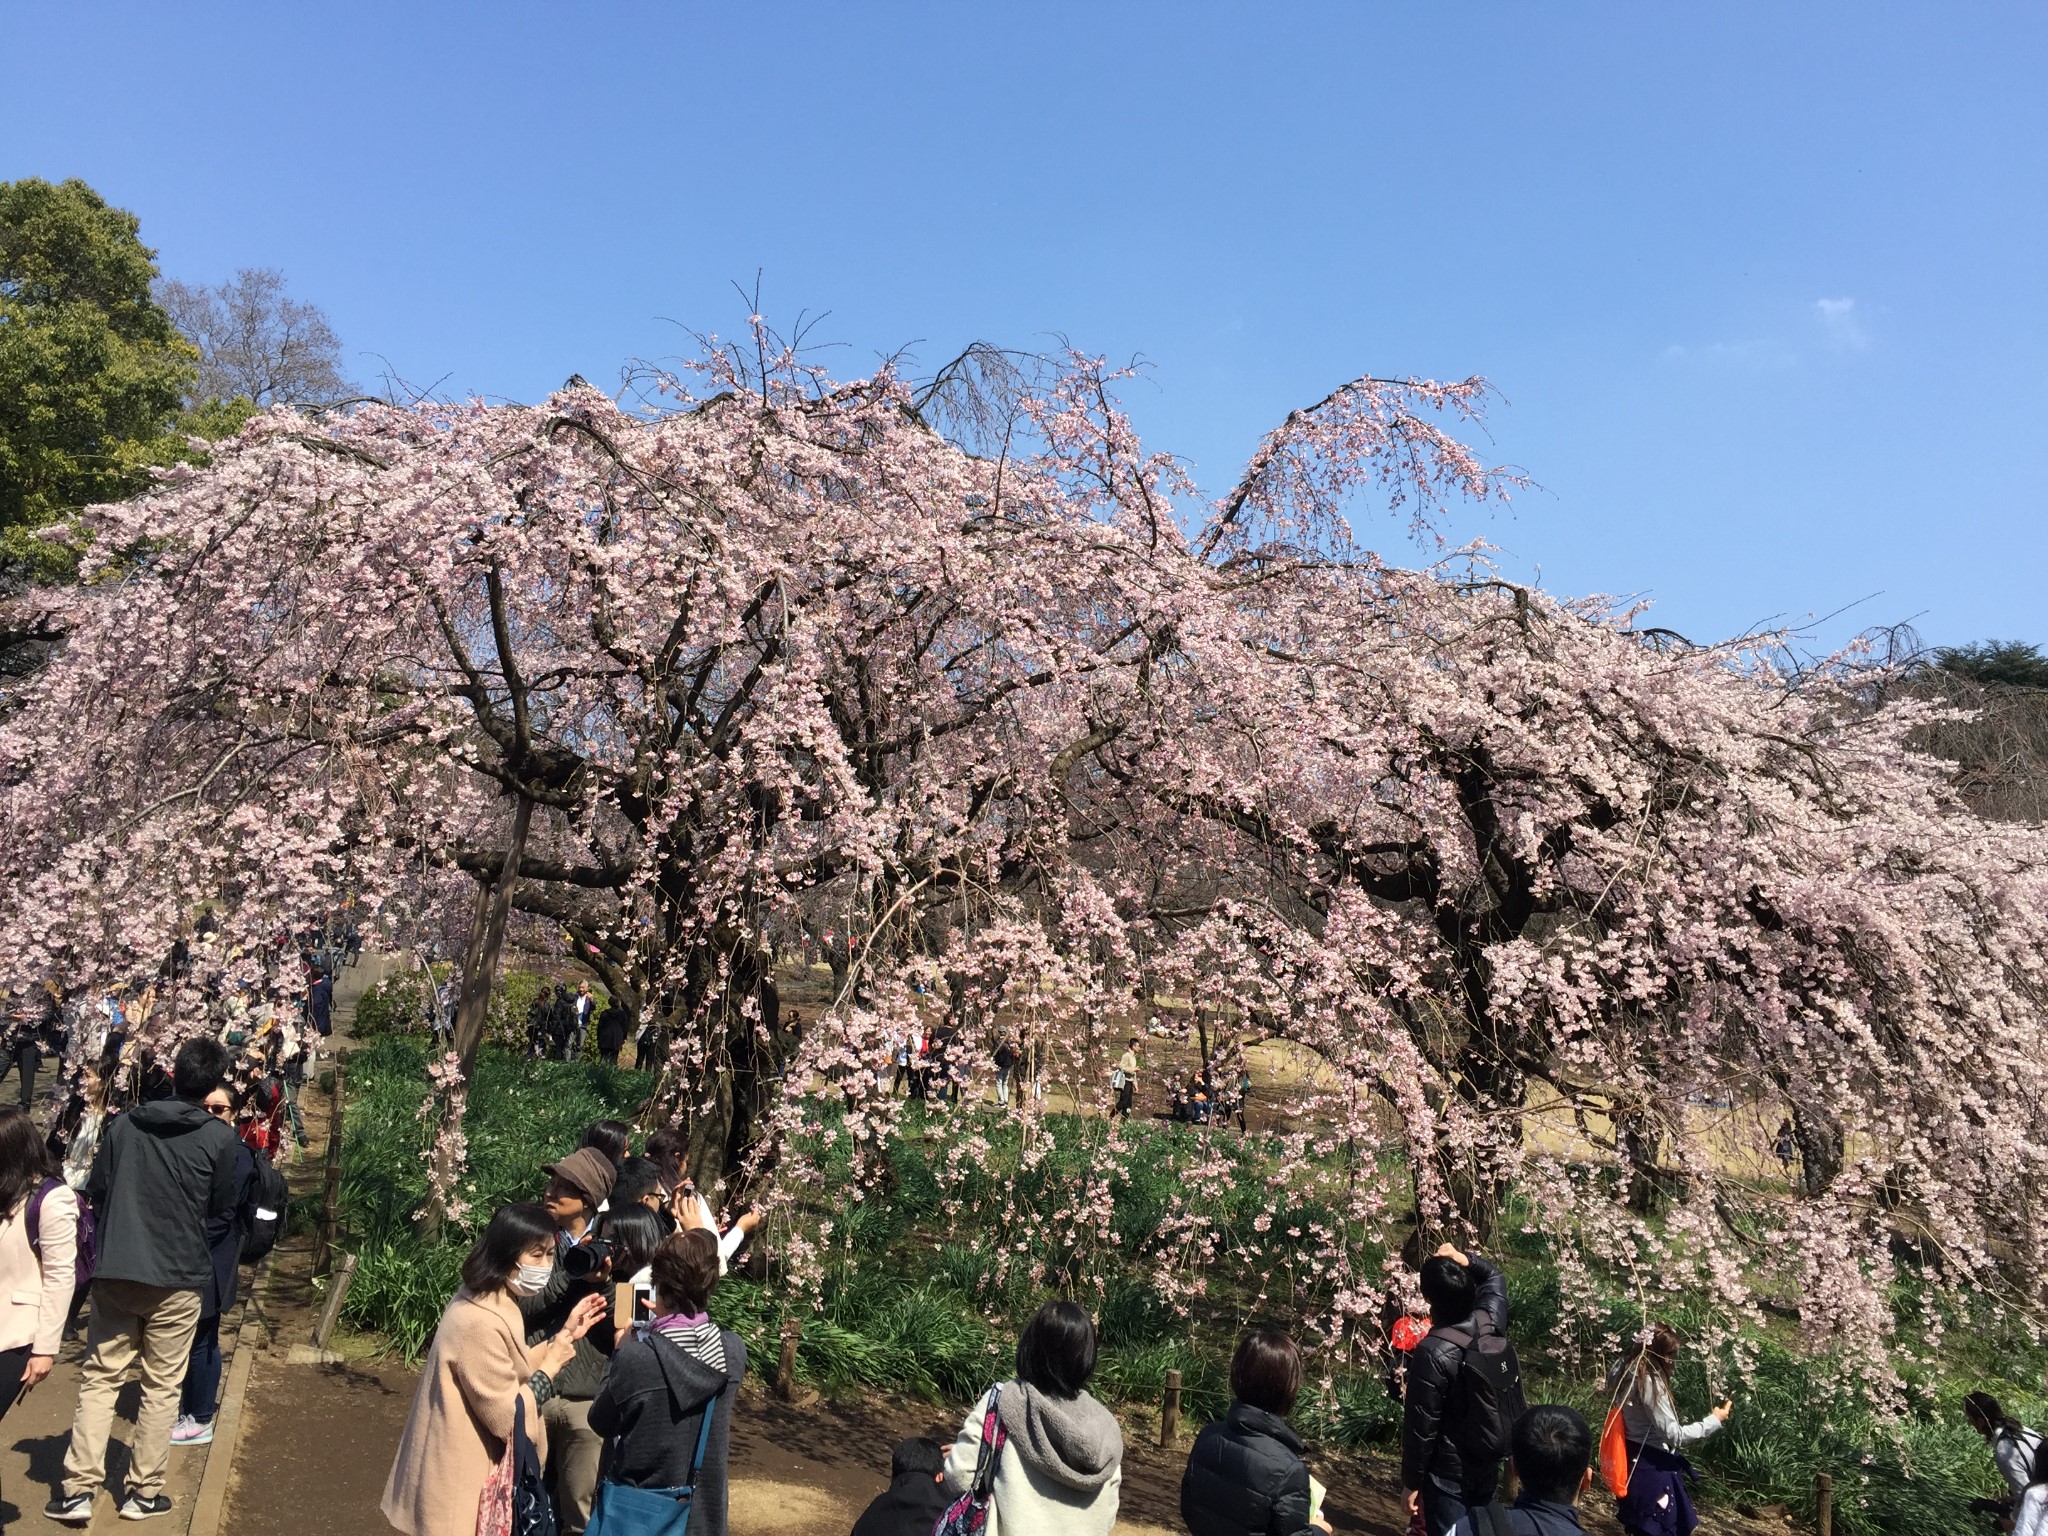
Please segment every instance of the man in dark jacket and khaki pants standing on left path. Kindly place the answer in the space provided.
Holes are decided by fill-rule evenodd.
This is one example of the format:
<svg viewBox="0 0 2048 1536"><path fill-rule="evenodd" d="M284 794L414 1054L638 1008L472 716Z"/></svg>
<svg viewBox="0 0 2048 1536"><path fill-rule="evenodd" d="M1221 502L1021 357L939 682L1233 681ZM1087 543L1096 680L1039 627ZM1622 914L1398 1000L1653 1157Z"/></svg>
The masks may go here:
<svg viewBox="0 0 2048 1536"><path fill-rule="evenodd" d="M80 1370L63 1483L43 1513L66 1526L92 1522L104 1477L106 1434L129 1364L141 1356L141 1407L129 1452L123 1520L170 1511L164 1464L178 1413L193 1329L213 1251L207 1223L236 1208L233 1128L205 1110L227 1075L219 1040L186 1040L172 1063L176 1098L141 1104L106 1124L86 1198L100 1212L92 1272L92 1323Z"/></svg>

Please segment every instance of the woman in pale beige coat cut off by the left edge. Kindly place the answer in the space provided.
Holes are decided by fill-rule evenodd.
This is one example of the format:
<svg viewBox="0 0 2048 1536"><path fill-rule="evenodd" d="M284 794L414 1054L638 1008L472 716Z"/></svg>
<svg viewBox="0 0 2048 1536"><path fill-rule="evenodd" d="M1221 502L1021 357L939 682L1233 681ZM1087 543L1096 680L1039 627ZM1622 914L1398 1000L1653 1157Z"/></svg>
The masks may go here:
<svg viewBox="0 0 2048 1536"><path fill-rule="evenodd" d="M57 1360L76 1253L78 1196L27 1112L0 1110L0 1413Z"/></svg>

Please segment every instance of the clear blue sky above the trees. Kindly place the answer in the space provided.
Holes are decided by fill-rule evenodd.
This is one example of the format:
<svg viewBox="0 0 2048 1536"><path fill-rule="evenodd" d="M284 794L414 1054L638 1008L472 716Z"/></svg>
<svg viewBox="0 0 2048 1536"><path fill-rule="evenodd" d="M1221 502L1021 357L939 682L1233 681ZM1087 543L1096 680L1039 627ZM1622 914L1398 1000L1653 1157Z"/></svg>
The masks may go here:
<svg viewBox="0 0 2048 1536"><path fill-rule="evenodd" d="M0 178L276 266L358 379L532 399L829 311L842 373L1143 356L1223 487L1356 373L1487 375L1460 537L1720 637L2048 641L2048 10L8 4ZM1368 543L1415 557L1393 520ZM1862 602L1860 602L1862 600Z"/></svg>

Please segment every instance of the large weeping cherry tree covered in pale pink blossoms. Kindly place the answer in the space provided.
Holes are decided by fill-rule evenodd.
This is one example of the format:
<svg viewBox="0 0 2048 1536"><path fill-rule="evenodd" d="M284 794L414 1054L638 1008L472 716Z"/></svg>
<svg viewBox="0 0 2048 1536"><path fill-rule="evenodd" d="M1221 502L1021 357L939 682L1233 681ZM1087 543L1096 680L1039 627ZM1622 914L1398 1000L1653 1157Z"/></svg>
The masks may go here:
<svg viewBox="0 0 2048 1536"><path fill-rule="evenodd" d="M1911 1348L1894 1264L2023 1300L2048 842L1915 750L1939 707L1479 551L1382 563L1360 508L1430 537L1513 483L1444 428L1477 381L1358 379L1212 504L1116 383L989 356L836 383L758 332L645 414L582 383L264 414L92 514L68 647L0 729L0 965L119 981L201 903L231 948L457 872L442 1194L528 913L672 1030L649 1112L694 1171L780 1159L788 1206L807 1157L885 1176L891 1042L934 999L961 1061L1022 1034L1100 1112L1051 1217L1065 1282L1135 1155L1102 1053L1178 995L1204 1063L1319 1063L1272 1157L1214 1139L1124 1255L1180 1303L1303 1262L1350 1335L1403 1241L1503 1217L1552 1235L1569 1307L1595 1270L1686 1284L1733 1337L1796 1288L1878 1382ZM799 1042L770 948L827 928L844 985ZM1792 1198L1751 1167L1780 1114ZM987 1130L948 1135L965 1178ZM1360 1171L1391 1163L1407 1188ZM1337 1217L1221 1251L1247 1178Z"/></svg>

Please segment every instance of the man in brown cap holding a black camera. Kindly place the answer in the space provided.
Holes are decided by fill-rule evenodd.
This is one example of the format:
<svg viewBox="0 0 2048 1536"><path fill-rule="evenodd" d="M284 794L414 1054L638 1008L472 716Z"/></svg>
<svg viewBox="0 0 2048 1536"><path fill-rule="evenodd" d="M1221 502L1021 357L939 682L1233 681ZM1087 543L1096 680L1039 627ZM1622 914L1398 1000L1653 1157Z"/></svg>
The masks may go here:
<svg viewBox="0 0 2048 1536"><path fill-rule="evenodd" d="M559 1163L549 1163L541 1204L555 1219L555 1274L532 1296L518 1303L526 1319L526 1343L535 1346L567 1323L584 1296L604 1294L610 1253L596 1237L598 1206L612 1194L616 1169L596 1147L580 1147ZM623 1278L623 1276L621 1276ZM590 1524L590 1501L598 1491L598 1462L604 1440L590 1427L590 1399L598 1395L612 1360L614 1335L602 1323L575 1341L575 1356L553 1376L555 1395L541 1405L547 1423L547 1462L555 1479L555 1516L563 1536L582 1536Z"/></svg>

